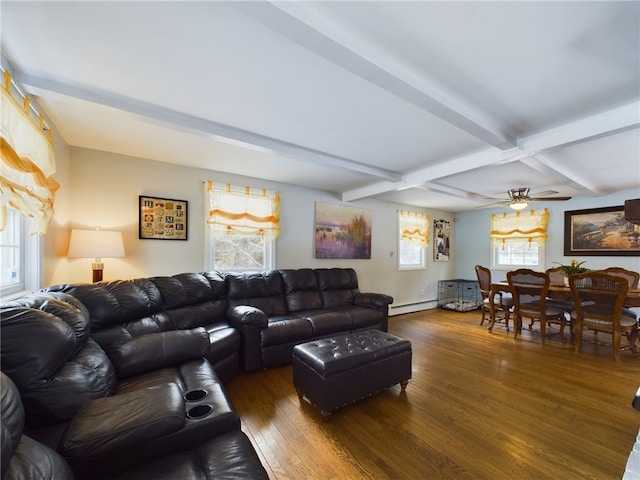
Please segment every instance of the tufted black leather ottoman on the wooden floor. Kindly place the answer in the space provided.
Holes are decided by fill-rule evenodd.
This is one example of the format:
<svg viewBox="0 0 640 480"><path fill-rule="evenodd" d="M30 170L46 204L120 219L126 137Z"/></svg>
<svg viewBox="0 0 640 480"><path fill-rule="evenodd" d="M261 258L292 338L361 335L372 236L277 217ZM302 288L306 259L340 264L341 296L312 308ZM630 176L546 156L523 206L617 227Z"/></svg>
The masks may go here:
<svg viewBox="0 0 640 480"><path fill-rule="evenodd" d="M322 338L293 349L293 385L327 418L411 378L411 342L381 330Z"/></svg>

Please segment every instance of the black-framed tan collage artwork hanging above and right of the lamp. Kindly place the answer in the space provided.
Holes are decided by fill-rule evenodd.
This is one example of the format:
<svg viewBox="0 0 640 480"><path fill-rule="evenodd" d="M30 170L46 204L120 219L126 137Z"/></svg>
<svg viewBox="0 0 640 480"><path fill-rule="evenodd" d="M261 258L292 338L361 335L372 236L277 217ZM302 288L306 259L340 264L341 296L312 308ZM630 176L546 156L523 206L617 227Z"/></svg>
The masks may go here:
<svg viewBox="0 0 640 480"><path fill-rule="evenodd" d="M138 238L187 240L189 202L172 198L139 196Z"/></svg>

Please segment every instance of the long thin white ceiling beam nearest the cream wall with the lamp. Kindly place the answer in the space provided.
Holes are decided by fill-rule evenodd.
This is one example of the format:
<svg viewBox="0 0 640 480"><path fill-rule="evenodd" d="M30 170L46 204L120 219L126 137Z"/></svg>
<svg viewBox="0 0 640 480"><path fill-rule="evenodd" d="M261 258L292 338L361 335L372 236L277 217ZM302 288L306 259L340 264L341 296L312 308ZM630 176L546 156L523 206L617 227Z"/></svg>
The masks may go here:
<svg viewBox="0 0 640 480"><path fill-rule="evenodd" d="M211 135L214 141L216 140L215 137L224 137L237 142L257 145L264 149L273 150L296 160L313 163L315 165L331 165L343 170L364 174L385 181L399 181L402 178L400 173L392 170L366 165L337 155L313 150L276 138L259 135L257 133L201 117L187 115L176 110L146 103L131 97L118 95L110 91L70 85L32 75L26 75L21 72L15 73L15 79L27 90L28 93L31 94L37 95L39 90L55 92L72 98L140 115L142 117L164 123L173 128L181 127L191 131L206 133Z"/></svg>

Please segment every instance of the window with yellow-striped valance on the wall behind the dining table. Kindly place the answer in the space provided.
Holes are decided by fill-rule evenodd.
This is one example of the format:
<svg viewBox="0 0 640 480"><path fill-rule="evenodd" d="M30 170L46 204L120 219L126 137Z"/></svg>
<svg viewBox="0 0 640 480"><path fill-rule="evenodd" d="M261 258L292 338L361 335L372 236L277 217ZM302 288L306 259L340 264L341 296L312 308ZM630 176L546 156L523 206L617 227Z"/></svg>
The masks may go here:
<svg viewBox="0 0 640 480"><path fill-rule="evenodd" d="M549 211L491 216L491 268L544 269Z"/></svg>

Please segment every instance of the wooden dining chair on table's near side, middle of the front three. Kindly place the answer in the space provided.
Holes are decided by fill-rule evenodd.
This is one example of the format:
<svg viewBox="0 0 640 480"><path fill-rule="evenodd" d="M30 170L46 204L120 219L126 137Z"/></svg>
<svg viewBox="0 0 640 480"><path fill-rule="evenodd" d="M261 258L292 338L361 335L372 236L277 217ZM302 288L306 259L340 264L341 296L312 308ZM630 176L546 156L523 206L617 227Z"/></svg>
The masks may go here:
<svg viewBox="0 0 640 480"><path fill-rule="evenodd" d="M560 336L564 342L564 328L567 324L564 311L552 305L547 305L549 293L549 277L545 272L537 272L528 268L521 268L507 272L507 282L513 297L513 320L515 333L518 337L522 330L522 319L528 318L529 328L538 321L540 323L541 341L544 343L548 323L560 325Z"/></svg>

